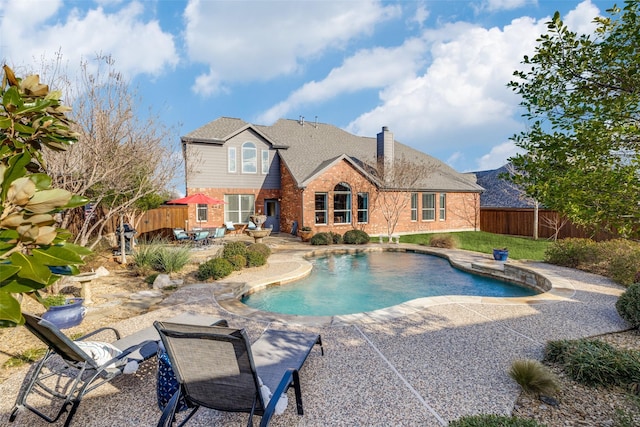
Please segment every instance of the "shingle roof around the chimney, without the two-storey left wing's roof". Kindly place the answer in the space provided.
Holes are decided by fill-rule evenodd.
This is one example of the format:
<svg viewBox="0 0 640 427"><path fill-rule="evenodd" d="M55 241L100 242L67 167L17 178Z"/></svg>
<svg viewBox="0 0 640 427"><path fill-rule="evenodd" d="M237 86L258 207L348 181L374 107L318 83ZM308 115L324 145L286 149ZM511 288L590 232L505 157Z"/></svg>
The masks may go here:
<svg viewBox="0 0 640 427"><path fill-rule="evenodd" d="M272 126L256 125L271 141L285 142L286 151L280 151L297 184L300 187L315 176L322 165L338 159L341 155L371 177L361 166L375 164L377 139L350 134L338 127L324 123L302 124L298 120L280 119ZM461 174L444 162L435 159L407 145L395 142L396 159L416 161L425 165L425 175L415 190L481 192L483 189L475 183L473 175ZM375 182L375 181L374 181Z"/></svg>

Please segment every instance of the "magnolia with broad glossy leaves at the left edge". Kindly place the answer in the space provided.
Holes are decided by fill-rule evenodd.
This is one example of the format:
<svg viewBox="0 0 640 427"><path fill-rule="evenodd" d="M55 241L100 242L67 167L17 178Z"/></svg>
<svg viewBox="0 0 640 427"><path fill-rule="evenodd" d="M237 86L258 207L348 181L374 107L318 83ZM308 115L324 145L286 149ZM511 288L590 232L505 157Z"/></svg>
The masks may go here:
<svg viewBox="0 0 640 427"><path fill-rule="evenodd" d="M40 291L61 277L53 267L77 274L90 253L55 224L57 213L87 200L53 186L43 158L44 149L64 152L77 138L61 93L5 65L0 95L0 326L15 326L24 323L22 295L44 305Z"/></svg>

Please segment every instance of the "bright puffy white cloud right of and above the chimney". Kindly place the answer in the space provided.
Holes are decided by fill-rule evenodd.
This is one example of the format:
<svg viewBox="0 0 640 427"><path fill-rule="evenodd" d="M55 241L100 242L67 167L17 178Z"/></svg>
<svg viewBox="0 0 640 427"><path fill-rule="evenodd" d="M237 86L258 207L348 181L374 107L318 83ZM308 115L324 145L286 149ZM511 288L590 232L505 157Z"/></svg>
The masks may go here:
<svg viewBox="0 0 640 427"><path fill-rule="evenodd" d="M460 146L477 143L480 129L515 129L511 119L517 99L506 87L524 54L531 53L544 24L530 18L503 29L467 23L449 24L424 32L431 65L420 76L385 87L381 105L353 120L348 129L375 133L381 123L395 129L401 141L412 145L446 141L466 129ZM505 135L500 139L504 139Z"/></svg>

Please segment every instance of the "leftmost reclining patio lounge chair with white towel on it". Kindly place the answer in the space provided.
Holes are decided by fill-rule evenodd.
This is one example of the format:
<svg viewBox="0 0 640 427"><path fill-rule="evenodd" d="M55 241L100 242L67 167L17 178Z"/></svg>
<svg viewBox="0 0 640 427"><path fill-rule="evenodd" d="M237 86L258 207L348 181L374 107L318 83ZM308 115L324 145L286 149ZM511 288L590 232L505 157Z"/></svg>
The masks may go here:
<svg viewBox="0 0 640 427"><path fill-rule="evenodd" d="M25 377L9 417L11 422L23 408L49 423L56 422L68 410L64 424L67 427L85 394L123 373L135 372L137 363L155 356L158 349L158 341L147 339L148 333L121 338L116 329L105 327L73 341L51 322L28 313L23 313L23 316L25 327L48 349L44 358ZM85 341L105 331L111 331L116 341ZM62 401L62 405L52 416L45 414L27 402L32 394L44 396L51 403Z"/></svg>

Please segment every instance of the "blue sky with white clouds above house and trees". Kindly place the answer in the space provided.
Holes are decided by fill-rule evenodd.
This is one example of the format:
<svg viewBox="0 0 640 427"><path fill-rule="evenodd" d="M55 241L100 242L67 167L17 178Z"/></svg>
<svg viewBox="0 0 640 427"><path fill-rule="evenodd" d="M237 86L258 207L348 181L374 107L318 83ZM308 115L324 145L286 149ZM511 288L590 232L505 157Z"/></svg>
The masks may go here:
<svg viewBox="0 0 640 427"><path fill-rule="evenodd" d="M621 3L621 2L619 2ZM330 123L461 172L494 169L525 129L506 84L559 10L590 32L612 2L0 0L0 58L38 71L97 52L179 136L221 116ZM73 75L73 70L69 71ZM182 187L182 188L180 188ZM184 188L184 183L178 185Z"/></svg>

